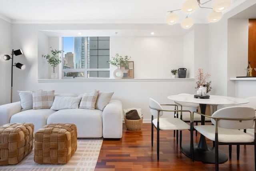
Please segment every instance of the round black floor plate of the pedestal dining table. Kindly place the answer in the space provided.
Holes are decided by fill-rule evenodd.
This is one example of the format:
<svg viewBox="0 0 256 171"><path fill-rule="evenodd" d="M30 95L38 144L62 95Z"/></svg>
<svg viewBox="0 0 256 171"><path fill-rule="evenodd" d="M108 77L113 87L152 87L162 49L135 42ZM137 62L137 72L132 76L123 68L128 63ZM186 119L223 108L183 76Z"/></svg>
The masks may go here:
<svg viewBox="0 0 256 171"><path fill-rule="evenodd" d="M182 153L190 157L190 144L184 144L181 147ZM194 160L202 161L203 163L215 163L215 149L208 147L208 150L198 148L198 144L194 143ZM228 161L228 156L219 150L219 163Z"/></svg>

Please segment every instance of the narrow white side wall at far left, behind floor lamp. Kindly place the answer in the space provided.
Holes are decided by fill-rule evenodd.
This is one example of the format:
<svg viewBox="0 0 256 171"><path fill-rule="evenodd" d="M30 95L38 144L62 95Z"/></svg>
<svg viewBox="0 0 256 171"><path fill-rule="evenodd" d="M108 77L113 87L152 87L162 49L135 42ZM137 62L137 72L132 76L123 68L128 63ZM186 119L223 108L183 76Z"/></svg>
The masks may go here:
<svg viewBox="0 0 256 171"><path fill-rule="evenodd" d="M0 18L0 55L11 56L11 24ZM12 57L12 56L11 56ZM0 60L0 105L10 103L12 60Z"/></svg>

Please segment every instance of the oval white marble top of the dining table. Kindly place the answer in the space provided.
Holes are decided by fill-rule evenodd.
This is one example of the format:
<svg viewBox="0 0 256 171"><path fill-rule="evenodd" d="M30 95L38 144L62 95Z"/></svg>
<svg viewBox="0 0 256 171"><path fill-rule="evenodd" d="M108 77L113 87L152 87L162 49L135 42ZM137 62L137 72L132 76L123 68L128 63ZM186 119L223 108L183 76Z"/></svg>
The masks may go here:
<svg viewBox="0 0 256 171"><path fill-rule="evenodd" d="M209 99L197 99L197 98L194 98L194 94L179 94L179 95L169 95L167 98L174 101L199 103L199 104L212 104L212 105L249 103L249 100L247 99L242 99L238 97L228 97L228 96L222 96L222 95L210 95Z"/></svg>

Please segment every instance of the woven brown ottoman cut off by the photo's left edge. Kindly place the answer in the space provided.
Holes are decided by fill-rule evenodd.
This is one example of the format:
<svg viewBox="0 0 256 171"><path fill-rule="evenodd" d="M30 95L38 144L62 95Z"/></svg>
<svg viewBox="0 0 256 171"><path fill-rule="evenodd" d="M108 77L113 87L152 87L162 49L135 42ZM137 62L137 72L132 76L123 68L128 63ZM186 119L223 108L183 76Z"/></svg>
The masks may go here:
<svg viewBox="0 0 256 171"><path fill-rule="evenodd" d="M33 141L33 123L8 123L0 126L0 165L19 163L32 151Z"/></svg>

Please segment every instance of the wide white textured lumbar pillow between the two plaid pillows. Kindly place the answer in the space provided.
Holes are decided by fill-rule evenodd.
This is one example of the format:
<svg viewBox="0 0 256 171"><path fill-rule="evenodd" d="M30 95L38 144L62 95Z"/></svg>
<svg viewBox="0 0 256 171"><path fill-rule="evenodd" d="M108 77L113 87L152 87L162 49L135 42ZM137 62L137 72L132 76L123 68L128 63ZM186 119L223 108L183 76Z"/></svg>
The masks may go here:
<svg viewBox="0 0 256 171"><path fill-rule="evenodd" d="M81 97L61 97L55 96L52 103L52 110L60 109L78 109Z"/></svg>

